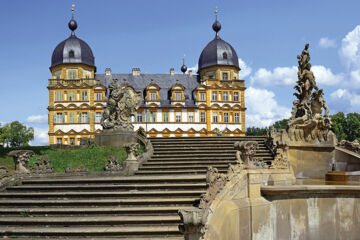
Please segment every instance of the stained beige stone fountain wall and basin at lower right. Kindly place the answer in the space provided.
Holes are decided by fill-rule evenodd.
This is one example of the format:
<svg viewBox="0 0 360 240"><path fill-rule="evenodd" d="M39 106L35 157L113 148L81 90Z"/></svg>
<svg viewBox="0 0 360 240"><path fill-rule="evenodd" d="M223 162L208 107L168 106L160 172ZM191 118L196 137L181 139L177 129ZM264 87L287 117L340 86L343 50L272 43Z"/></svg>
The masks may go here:
<svg viewBox="0 0 360 240"><path fill-rule="evenodd" d="M202 239L359 239L360 186L294 180L291 170L243 170L207 210Z"/></svg>

